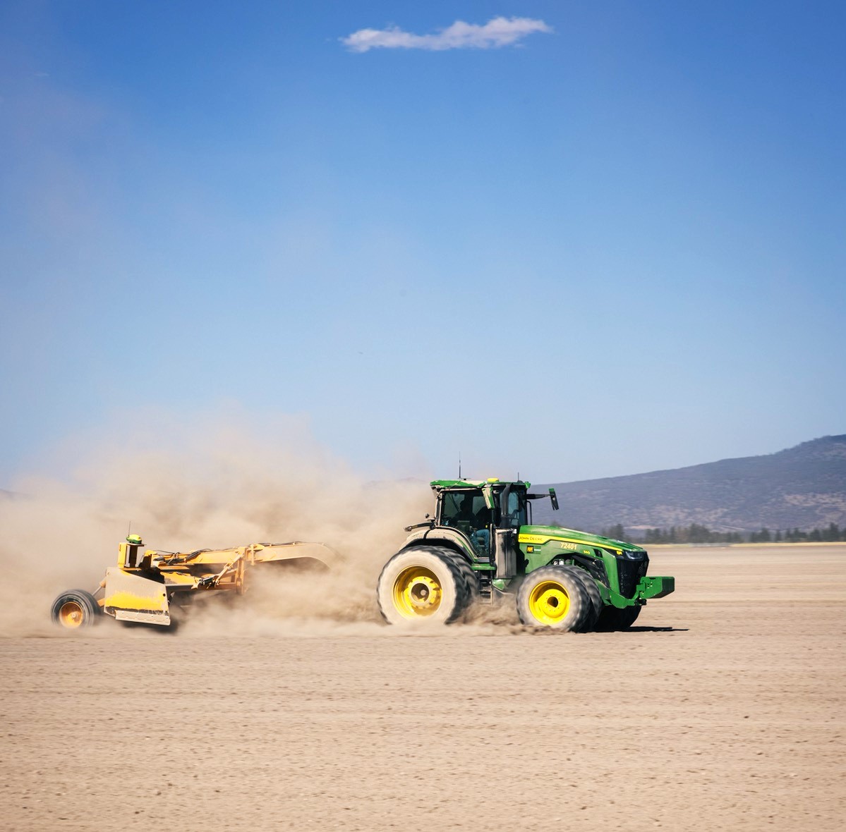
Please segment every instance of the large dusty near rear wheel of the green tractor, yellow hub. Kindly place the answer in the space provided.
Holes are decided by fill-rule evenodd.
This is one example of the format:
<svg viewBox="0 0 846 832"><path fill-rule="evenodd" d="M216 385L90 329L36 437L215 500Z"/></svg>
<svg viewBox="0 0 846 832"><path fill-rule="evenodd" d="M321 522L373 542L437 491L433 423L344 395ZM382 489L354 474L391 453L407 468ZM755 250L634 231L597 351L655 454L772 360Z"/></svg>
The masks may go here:
<svg viewBox="0 0 846 832"><path fill-rule="evenodd" d="M379 611L388 624L449 624L470 592L453 553L439 546L406 549L387 561L376 583Z"/></svg>

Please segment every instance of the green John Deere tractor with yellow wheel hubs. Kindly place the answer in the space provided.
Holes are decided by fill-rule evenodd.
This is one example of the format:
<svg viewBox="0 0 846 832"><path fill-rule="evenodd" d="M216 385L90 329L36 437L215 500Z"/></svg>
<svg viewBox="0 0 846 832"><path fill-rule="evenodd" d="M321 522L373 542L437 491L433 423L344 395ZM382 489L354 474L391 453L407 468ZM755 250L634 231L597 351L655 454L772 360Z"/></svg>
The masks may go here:
<svg viewBox="0 0 846 832"><path fill-rule="evenodd" d="M640 546L558 526L535 526L530 483L437 479L435 517L407 526L376 596L388 623L450 623L470 605L514 596L520 621L563 631L631 627L648 598L673 592L649 577Z"/></svg>

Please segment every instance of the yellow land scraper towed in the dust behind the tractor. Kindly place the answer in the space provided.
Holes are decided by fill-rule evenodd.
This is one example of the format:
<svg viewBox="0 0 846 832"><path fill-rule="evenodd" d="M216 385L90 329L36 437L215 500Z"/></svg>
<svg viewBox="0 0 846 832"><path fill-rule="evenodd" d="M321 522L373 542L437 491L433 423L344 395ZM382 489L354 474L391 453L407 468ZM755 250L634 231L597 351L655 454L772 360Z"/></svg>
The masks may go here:
<svg viewBox="0 0 846 832"><path fill-rule="evenodd" d="M244 594L250 567L276 561L293 570L327 569L337 560L322 543L254 543L232 549L165 552L144 549L137 534L118 546L118 563L92 594L69 589L52 605L52 620L69 630L87 627L106 613L118 621L171 626L173 605L181 606L195 593L228 590Z"/></svg>

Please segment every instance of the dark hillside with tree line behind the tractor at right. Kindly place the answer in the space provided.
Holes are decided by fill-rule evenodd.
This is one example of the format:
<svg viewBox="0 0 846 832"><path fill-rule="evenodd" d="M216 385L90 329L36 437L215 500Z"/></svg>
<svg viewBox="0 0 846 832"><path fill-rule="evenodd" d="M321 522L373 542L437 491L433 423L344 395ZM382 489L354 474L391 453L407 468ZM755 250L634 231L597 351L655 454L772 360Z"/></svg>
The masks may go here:
<svg viewBox="0 0 846 832"><path fill-rule="evenodd" d="M846 435L762 457L554 485L561 511L538 501L536 523L588 530L613 523L629 529L701 523L722 532L843 526Z"/></svg>

